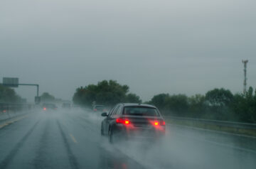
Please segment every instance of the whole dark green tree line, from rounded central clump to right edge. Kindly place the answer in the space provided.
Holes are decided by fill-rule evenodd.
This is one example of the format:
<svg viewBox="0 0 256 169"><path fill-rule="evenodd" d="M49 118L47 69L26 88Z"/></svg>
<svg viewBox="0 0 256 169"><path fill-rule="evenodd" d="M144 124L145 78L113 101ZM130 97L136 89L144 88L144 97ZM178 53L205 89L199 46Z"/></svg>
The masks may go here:
<svg viewBox="0 0 256 169"><path fill-rule="evenodd" d="M129 87L114 80L78 87L73 103L91 107L92 103L113 106L119 102L141 103ZM224 121L256 122L256 90L233 94L229 89L212 89L191 97L186 94L156 94L146 104L154 104L165 116L183 116Z"/></svg>

